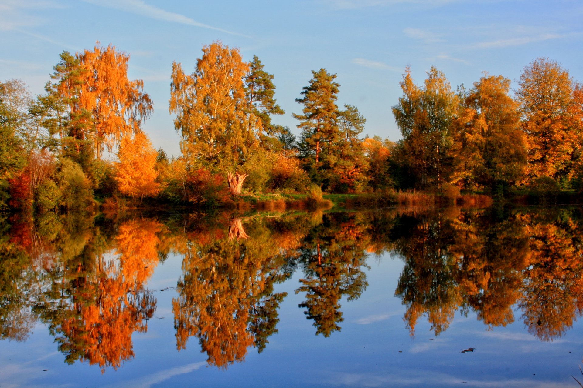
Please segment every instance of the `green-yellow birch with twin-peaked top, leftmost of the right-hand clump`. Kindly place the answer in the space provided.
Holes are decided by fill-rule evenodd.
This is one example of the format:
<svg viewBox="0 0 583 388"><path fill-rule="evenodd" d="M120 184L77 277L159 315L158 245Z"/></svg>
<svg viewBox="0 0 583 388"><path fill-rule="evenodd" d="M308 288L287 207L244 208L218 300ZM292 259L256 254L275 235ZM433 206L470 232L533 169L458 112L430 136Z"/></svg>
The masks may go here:
<svg viewBox="0 0 583 388"><path fill-rule="evenodd" d="M451 146L449 126L458 108L445 74L431 67L423 87L413 83L410 69L401 81L403 97L392 107L403 136L408 163L421 187L441 189Z"/></svg>

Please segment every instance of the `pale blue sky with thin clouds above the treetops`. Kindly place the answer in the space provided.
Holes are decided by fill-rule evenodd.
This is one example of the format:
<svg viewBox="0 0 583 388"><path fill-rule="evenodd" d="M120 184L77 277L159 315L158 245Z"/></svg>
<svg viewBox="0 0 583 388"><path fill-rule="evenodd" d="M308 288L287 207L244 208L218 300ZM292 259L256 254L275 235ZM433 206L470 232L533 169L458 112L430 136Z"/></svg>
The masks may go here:
<svg viewBox="0 0 583 388"><path fill-rule="evenodd" d="M171 65L194 72L203 45L222 41L257 55L273 74L286 111L273 122L298 134L295 99L312 70L337 74L338 105L355 105L364 134L401 134L391 106L405 67L416 83L436 66L452 88L501 74L516 88L540 56L583 81L581 0L0 0L0 80L22 79L41 94L62 51L97 41L127 52L130 79L142 79L154 113L142 129L155 148L180 154L168 113Z"/></svg>

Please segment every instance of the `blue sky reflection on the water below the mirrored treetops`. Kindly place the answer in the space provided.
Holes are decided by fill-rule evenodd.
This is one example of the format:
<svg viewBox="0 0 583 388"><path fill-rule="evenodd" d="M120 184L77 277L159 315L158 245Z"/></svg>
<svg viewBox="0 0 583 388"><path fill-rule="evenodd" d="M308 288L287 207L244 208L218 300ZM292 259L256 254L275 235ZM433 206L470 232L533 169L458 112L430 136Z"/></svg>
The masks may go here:
<svg viewBox="0 0 583 388"><path fill-rule="evenodd" d="M544 343L526 333L521 321L487 330L475 314L465 318L458 312L438 337L424 318L410 337L402 319L405 307L394 297L402 260L371 257L368 265L367 290L357 301L340 301L342 332L315 336L312 321L297 307L305 296L294 293L302 277L296 273L276 286L276 291L288 293L279 310L279 333L269 337L263 353L250 348L245 362L222 371L206 366L195 337L185 350L176 351L171 312L175 291L167 287L175 287L181 258L170 256L148 283L157 290L157 310L147 333L132 337L135 359L103 375L99 366L66 365L48 330L39 325L25 343L2 341L0 386L574 386L571 375L580 373L583 354L579 323L561 339ZM468 347L476 351L460 353Z"/></svg>

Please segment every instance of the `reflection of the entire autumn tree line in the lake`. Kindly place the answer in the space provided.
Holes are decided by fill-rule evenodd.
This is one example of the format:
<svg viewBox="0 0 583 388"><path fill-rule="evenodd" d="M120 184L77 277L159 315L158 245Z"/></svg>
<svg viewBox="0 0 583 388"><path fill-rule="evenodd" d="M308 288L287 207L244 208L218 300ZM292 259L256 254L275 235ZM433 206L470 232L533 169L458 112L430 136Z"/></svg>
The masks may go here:
<svg viewBox="0 0 583 388"><path fill-rule="evenodd" d="M176 347L199 346L219 368L268 346L287 296L276 284L295 272L298 313L316 334L339 332L340 301L366 292L367 257L383 252L404 261L389 291L405 305L412 335L421 319L437 335L456 311L472 311L490 329L519 320L549 341L583 311L578 209L0 221L0 337L26 340L41 321L66 362L103 371L134 357L132 334L147 331L157 307L146 284L169 254L182 258L172 301Z"/></svg>

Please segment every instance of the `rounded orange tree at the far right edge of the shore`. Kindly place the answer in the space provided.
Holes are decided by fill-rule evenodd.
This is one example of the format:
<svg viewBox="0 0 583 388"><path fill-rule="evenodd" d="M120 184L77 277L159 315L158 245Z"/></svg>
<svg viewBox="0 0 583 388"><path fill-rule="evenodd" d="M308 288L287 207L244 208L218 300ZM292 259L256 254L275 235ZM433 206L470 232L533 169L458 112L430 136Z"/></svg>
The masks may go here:
<svg viewBox="0 0 583 388"><path fill-rule="evenodd" d="M573 80L559 63L541 57L524 68L518 86L528 141L526 180L547 177L564 186L574 175L581 144L582 115L574 106Z"/></svg>

